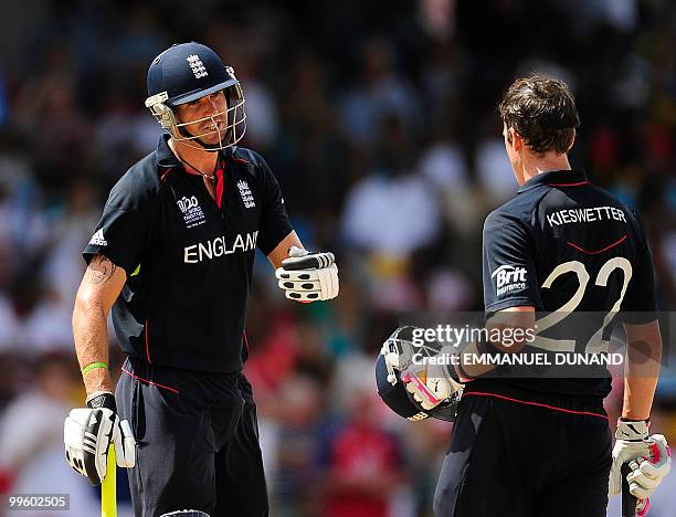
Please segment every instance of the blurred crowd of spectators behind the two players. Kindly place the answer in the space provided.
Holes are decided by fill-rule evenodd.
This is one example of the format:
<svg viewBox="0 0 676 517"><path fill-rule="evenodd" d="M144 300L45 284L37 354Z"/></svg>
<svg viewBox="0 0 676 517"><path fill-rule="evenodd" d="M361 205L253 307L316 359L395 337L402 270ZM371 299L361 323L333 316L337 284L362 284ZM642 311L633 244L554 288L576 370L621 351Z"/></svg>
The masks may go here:
<svg viewBox="0 0 676 517"><path fill-rule="evenodd" d="M256 261L245 371L273 515L431 515L451 425L391 414L373 365L402 312L483 310L483 220L516 190L496 113L516 76L570 85L582 119L571 162L641 213L659 306L676 306L674 2L2 6L0 493L68 493L72 515L96 515L96 490L62 457L63 418L84 399L71 330L81 252L109 188L157 146L145 74L175 42L234 67L244 147L268 161L305 245L340 267L337 300L299 306ZM110 346L119 365L113 334ZM653 429L672 443L675 408L665 381ZM651 515L673 515L659 497Z"/></svg>

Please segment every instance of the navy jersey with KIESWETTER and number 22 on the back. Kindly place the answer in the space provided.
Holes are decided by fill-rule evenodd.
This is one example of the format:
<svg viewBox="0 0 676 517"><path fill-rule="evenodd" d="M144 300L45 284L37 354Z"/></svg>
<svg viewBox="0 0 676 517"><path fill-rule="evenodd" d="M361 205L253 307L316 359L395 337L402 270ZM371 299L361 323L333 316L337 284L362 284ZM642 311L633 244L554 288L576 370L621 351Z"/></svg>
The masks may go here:
<svg viewBox="0 0 676 517"><path fill-rule="evenodd" d="M508 307L534 306L538 331L553 336L539 341L546 350L596 351L593 344L610 330L610 324L604 325L609 313L620 312L619 318L631 323L655 319L645 230L635 213L581 170L538 175L488 215L483 276L487 317ZM598 377L591 378L499 382L546 393L605 397L610 376L598 368Z"/></svg>

